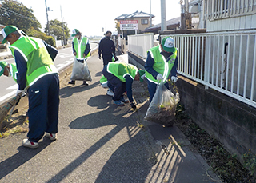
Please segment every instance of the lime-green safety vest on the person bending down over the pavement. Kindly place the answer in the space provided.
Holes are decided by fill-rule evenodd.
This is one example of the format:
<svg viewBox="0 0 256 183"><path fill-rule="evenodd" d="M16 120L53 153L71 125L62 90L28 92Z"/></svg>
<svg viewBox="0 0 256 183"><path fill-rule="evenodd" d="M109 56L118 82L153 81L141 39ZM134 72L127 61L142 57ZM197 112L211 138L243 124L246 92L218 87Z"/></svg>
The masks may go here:
<svg viewBox="0 0 256 183"><path fill-rule="evenodd" d="M107 72L114 74L114 76L119 78L121 82L126 82L126 75L130 75L130 77L134 79L138 72L136 66L122 62L109 62L106 70Z"/></svg>

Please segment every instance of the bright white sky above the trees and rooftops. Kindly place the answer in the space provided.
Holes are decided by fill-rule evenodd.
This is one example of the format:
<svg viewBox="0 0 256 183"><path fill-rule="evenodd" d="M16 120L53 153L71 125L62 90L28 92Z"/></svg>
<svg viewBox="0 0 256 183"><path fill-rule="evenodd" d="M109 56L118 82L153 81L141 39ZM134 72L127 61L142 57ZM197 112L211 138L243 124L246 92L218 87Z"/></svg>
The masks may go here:
<svg viewBox="0 0 256 183"><path fill-rule="evenodd" d="M122 14L143 11L150 14L150 0L18 0L34 10L34 16L46 27L46 5L50 8L48 19L67 23L70 31L78 29L82 35L102 36L106 30L114 32L114 19ZM166 0L166 20L180 17L180 0ZM61 14L62 9L62 14ZM151 0L153 24L161 23L161 0ZM104 32L102 32L104 28ZM71 32L70 32L71 33Z"/></svg>

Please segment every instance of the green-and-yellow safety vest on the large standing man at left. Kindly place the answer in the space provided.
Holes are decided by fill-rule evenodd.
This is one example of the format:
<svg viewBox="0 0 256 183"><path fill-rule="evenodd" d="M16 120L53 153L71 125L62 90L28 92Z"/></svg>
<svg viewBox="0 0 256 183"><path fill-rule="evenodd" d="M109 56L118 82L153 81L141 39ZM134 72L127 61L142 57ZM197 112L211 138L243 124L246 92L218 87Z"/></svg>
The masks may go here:
<svg viewBox="0 0 256 183"><path fill-rule="evenodd" d="M13 56L14 50L17 50L27 62L26 86L32 86L34 82L47 74L58 73L42 39L19 38L10 46L10 50Z"/></svg>

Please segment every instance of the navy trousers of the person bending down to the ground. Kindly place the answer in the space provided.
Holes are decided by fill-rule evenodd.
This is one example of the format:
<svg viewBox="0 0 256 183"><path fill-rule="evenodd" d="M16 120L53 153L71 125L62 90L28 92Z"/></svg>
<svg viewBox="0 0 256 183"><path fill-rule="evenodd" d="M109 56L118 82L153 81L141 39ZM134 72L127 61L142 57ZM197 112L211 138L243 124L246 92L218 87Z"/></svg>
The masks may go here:
<svg viewBox="0 0 256 183"><path fill-rule="evenodd" d="M121 82L114 74L107 72L106 66L103 67L102 74L107 79L107 86L114 92L114 97L112 97L113 101L120 101L123 97L123 93L126 92L126 83Z"/></svg>

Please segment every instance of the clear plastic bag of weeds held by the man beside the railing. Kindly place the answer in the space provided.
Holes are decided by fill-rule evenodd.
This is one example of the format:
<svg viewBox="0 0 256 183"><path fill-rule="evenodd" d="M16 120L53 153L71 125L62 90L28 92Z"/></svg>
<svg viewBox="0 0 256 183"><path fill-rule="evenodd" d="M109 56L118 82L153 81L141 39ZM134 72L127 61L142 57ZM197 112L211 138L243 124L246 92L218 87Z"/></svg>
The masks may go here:
<svg viewBox="0 0 256 183"><path fill-rule="evenodd" d="M165 126L174 124L176 106L179 102L179 93L172 93L166 89L163 83L158 84L157 90L146 111L144 119L146 121L156 122Z"/></svg>

